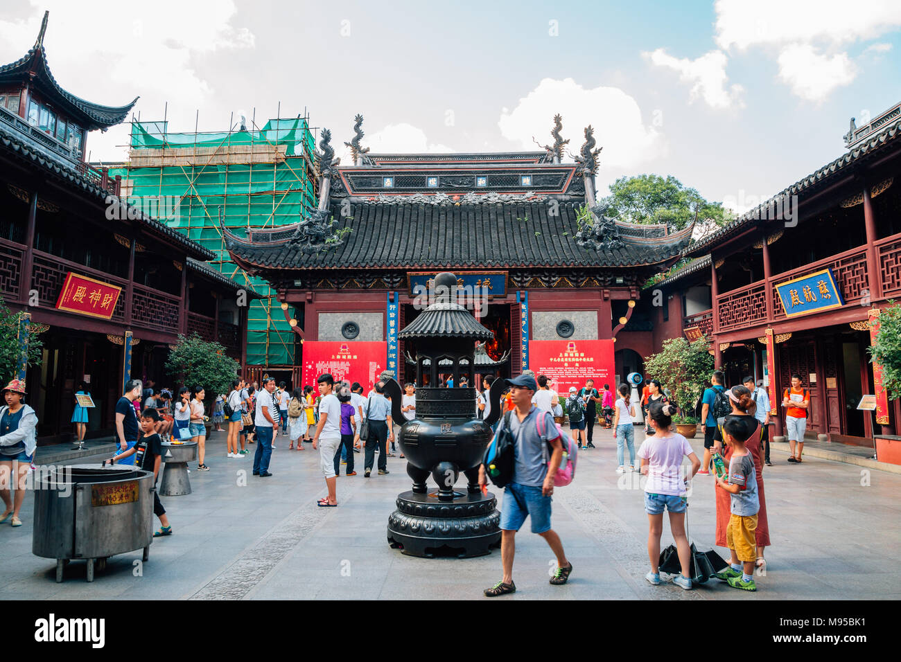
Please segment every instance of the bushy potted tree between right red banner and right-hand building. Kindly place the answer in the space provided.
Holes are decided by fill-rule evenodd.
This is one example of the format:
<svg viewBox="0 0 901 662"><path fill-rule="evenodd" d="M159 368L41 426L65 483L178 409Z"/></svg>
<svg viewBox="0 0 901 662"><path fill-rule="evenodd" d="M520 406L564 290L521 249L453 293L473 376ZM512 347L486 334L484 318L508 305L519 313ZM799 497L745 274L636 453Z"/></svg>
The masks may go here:
<svg viewBox="0 0 901 662"><path fill-rule="evenodd" d="M697 399L704 393L704 380L714 371L714 358L710 356L710 340L701 336L694 342L685 338L663 341L657 354L644 359L646 376L660 381L682 410L676 422L696 423L692 412Z"/></svg>

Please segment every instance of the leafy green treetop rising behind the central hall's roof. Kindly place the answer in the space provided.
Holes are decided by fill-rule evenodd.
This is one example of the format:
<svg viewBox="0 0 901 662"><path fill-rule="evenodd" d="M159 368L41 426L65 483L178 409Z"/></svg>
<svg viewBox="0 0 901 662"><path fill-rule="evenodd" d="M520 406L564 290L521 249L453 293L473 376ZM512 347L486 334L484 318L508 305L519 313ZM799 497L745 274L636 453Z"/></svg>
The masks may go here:
<svg viewBox="0 0 901 662"><path fill-rule="evenodd" d="M705 200L695 188L683 186L672 176L620 177L610 185L610 195L604 202L608 204L607 213L621 221L666 223L675 230L695 219L722 225L735 217L722 203Z"/></svg>

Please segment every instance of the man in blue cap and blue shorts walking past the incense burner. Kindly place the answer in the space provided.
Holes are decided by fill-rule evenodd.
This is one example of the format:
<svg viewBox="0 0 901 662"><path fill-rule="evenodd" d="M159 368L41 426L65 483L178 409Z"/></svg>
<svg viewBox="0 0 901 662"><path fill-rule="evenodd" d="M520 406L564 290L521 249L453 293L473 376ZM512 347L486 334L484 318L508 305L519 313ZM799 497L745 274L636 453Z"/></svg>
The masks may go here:
<svg viewBox="0 0 901 662"><path fill-rule="evenodd" d="M532 406L532 395L538 390L535 377L520 375L505 379L515 409L505 413L497 424L497 434L509 430L514 437L513 481L505 487L504 506L501 509L501 563L504 578L485 589L487 597L514 593L513 559L516 531L523 526L526 516L532 518L532 533L537 533L557 557L557 571L551 577L552 585L566 584L572 564L563 552L560 536L551 529L551 494L554 492L554 476L563 458L560 432L550 412ZM543 421L539 423L539 417ZM551 447L551 453L548 452ZM549 460L550 455L550 462ZM478 484L487 485L485 465L478 468Z"/></svg>

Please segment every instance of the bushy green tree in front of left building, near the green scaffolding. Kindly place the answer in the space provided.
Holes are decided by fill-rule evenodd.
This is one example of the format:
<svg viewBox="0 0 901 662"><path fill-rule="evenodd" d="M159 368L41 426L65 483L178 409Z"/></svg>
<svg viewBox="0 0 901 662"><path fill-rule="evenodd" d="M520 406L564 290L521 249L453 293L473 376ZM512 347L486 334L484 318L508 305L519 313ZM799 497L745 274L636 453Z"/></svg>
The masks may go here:
<svg viewBox="0 0 901 662"><path fill-rule="evenodd" d="M216 395L226 394L238 375L238 361L225 355L218 342L207 342L196 333L189 338L179 334L175 349L169 351L166 372L188 388L203 386L205 409L210 411Z"/></svg>

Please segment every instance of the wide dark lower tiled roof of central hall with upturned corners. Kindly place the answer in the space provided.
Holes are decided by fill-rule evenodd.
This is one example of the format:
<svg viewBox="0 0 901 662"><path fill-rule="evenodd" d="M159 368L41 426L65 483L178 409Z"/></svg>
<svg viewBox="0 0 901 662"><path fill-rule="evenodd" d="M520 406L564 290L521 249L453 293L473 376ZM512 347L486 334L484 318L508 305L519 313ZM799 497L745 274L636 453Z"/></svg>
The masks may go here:
<svg viewBox="0 0 901 662"><path fill-rule="evenodd" d="M288 240L258 243L223 231L232 256L261 268L516 268L637 267L677 256L687 237L672 242L631 240L622 248L578 246L580 204L332 204L343 242L313 255ZM558 215L551 215L557 210ZM630 241L628 238L623 238Z"/></svg>

